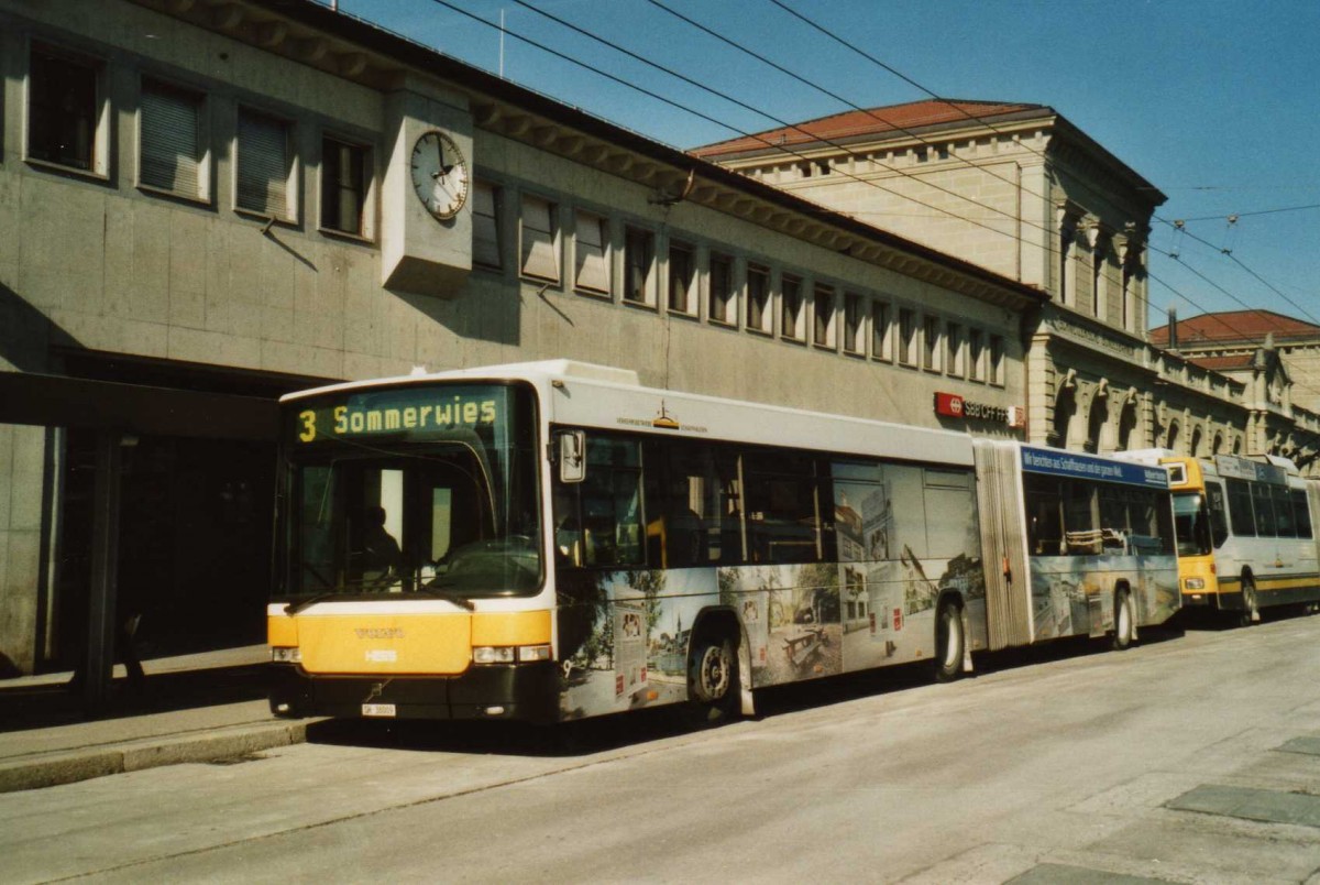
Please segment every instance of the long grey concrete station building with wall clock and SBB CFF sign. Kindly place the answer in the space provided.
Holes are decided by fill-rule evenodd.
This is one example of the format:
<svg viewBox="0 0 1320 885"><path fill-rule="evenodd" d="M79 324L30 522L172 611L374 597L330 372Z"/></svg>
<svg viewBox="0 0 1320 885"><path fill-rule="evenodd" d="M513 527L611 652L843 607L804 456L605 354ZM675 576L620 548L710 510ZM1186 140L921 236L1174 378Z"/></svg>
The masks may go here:
<svg viewBox="0 0 1320 885"><path fill-rule="evenodd" d="M1035 280L310 0L0 0L0 675L132 614L260 642L310 384L570 358L1008 439L1038 408Z"/></svg>

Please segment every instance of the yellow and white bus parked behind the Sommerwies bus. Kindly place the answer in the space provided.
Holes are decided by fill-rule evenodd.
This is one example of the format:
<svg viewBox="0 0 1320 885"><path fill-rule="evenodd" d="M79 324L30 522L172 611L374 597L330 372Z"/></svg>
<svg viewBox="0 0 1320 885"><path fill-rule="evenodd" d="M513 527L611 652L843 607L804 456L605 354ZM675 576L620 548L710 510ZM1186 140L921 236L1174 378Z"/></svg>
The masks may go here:
<svg viewBox="0 0 1320 885"><path fill-rule="evenodd" d="M1261 609L1320 601L1320 482L1287 458L1137 452L1162 464L1173 490L1183 605L1249 625Z"/></svg>

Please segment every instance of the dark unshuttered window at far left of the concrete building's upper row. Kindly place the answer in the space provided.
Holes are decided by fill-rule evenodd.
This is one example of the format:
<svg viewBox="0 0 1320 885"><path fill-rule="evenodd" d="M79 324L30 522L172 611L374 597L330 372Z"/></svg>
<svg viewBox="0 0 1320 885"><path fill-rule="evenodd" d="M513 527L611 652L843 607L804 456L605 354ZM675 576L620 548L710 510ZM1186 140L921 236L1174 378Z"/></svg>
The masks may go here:
<svg viewBox="0 0 1320 885"><path fill-rule="evenodd" d="M104 174L100 65L33 45L28 78L28 159Z"/></svg>

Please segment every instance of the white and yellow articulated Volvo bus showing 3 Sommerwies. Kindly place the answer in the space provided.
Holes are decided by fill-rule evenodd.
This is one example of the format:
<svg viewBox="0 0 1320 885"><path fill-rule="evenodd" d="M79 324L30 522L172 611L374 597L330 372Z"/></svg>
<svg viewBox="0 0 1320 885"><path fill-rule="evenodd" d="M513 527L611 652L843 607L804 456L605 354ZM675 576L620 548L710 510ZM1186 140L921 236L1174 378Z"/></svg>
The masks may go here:
<svg viewBox="0 0 1320 885"><path fill-rule="evenodd" d="M1179 605L1163 468L553 361L282 400L277 715L554 723Z"/></svg>

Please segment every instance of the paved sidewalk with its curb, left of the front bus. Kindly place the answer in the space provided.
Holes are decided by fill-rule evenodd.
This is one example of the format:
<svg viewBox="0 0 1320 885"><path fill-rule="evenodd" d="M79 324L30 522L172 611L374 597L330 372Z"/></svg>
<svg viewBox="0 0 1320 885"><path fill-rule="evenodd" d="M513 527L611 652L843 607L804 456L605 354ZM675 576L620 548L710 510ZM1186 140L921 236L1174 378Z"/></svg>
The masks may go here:
<svg viewBox="0 0 1320 885"><path fill-rule="evenodd" d="M0 793L300 744L309 721L271 716L264 645L115 667L108 712L87 720L71 674L0 680Z"/></svg>

